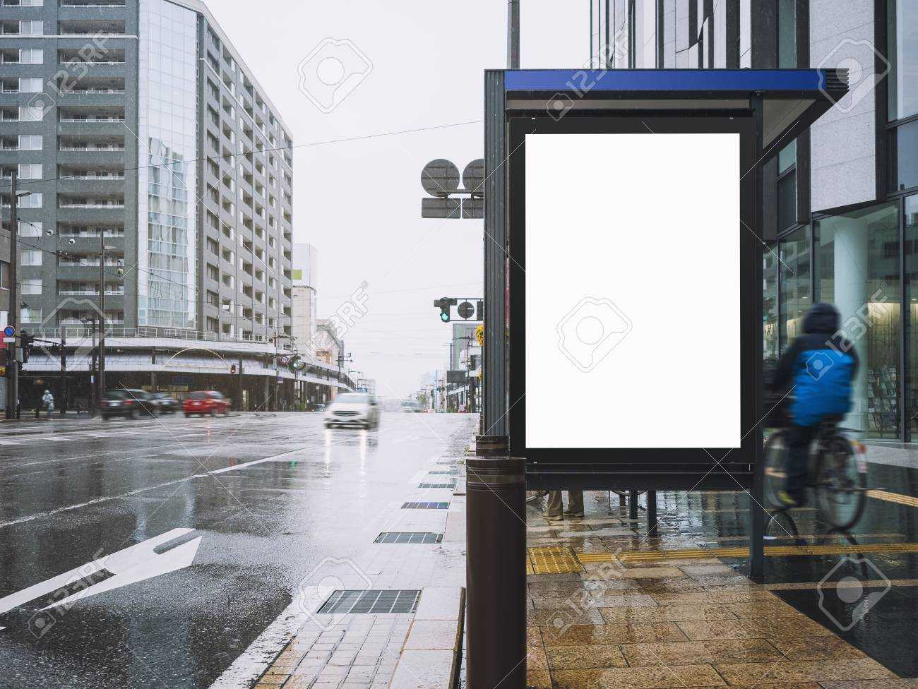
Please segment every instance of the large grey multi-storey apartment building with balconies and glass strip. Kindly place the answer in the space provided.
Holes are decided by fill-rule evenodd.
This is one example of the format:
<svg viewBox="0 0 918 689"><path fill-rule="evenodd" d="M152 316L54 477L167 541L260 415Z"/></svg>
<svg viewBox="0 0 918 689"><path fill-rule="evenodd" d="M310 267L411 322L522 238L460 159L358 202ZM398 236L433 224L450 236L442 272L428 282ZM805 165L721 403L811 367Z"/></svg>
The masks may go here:
<svg viewBox="0 0 918 689"><path fill-rule="evenodd" d="M207 6L0 0L0 124L23 326L291 334L292 139Z"/></svg>

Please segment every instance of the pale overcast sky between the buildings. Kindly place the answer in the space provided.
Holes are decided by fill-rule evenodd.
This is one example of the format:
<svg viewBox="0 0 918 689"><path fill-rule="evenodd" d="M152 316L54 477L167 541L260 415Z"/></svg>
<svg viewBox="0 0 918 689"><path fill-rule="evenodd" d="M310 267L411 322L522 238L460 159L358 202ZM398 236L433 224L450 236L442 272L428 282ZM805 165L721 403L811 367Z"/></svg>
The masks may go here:
<svg viewBox="0 0 918 689"><path fill-rule="evenodd" d="M433 299L483 295L482 221L421 219L420 171L434 158L462 171L483 156L483 71L506 65L506 4L260 0L252 12L252 0L207 3L301 147L294 241L319 250L319 316L368 283L368 312L345 336L352 366L376 379L380 395L412 394L448 357L451 328ZM575 14L570 5L523 0L523 67L588 58L588 4ZM327 39L350 41L372 64L330 113L301 92L298 70ZM317 53L319 77L333 82L325 71L334 62L321 61L328 50ZM347 45L337 50L359 65ZM473 124L303 146L463 122Z"/></svg>

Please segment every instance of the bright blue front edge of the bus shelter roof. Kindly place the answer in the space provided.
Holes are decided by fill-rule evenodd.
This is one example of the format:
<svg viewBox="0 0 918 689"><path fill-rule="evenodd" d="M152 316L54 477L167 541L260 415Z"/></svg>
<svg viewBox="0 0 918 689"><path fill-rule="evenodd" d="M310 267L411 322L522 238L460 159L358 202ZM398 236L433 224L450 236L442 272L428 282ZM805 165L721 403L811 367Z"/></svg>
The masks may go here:
<svg viewBox="0 0 918 689"><path fill-rule="evenodd" d="M586 78L584 78L586 73ZM507 91L814 91L824 70L508 70Z"/></svg>

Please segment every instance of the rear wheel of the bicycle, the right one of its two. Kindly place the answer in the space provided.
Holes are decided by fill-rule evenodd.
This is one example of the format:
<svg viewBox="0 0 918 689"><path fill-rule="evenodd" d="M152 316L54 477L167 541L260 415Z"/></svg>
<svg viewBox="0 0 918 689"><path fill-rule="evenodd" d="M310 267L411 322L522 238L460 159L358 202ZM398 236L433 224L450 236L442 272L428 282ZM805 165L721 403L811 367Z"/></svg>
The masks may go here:
<svg viewBox="0 0 918 689"><path fill-rule="evenodd" d="M867 462L858 461L851 443L834 435L816 458L816 505L834 528L853 527L867 506Z"/></svg>

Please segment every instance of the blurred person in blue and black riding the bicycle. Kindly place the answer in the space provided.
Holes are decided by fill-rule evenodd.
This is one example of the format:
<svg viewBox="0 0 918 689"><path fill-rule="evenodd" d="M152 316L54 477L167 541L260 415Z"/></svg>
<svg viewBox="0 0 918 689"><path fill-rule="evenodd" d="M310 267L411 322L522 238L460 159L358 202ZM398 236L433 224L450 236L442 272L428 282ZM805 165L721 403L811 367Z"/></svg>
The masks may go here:
<svg viewBox="0 0 918 689"><path fill-rule="evenodd" d="M810 443L826 417L851 408L851 382L857 372L854 345L839 332L840 317L831 304L814 304L803 317L803 334L781 355L772 389L790 387L791 427L785 460L787 475L778 499L785 506L806 500Z"/></svg>

